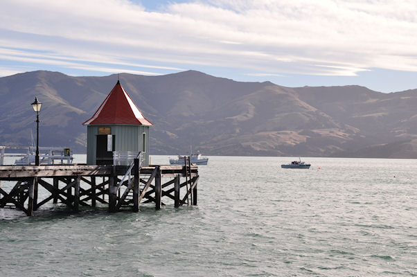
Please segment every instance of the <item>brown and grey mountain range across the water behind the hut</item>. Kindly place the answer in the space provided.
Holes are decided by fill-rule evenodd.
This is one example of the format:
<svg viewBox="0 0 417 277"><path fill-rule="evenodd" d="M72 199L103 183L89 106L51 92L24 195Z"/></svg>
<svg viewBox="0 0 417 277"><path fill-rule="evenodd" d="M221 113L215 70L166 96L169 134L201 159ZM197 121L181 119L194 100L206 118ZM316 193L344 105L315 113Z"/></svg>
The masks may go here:
<svg viewBox="0 0 417 277"><path fill-rule="evenodd" d="M33 71L0 78L0 145L67 146L85 153L87 128L118 78L150 130L150 154L417 158L417 89L281 87L198 71L73 77Z"/></svg>

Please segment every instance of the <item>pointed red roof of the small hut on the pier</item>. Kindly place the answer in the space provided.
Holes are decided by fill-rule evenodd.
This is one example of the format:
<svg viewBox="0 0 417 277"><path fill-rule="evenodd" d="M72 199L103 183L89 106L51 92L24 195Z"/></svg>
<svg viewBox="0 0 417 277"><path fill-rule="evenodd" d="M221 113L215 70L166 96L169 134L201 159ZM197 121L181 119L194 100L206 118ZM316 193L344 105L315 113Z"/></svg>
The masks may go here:
<svg viewBox="0 0 417 277"><path fill-rule="evenodd" d="M146 119L119 81L96 113L82 125L127 124L153 126Z"/></svg>

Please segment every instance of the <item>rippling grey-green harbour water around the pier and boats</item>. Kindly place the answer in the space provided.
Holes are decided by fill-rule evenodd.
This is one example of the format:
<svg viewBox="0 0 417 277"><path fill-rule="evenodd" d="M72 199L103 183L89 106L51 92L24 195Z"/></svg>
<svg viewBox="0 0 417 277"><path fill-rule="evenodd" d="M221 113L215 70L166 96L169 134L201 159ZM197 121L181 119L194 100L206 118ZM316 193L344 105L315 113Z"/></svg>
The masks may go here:
<svg viewBox="0 0 417 277"><path fill-rule="evenodd" d="M417 160L292 159L210 157L198 206L0 209L0 276L417 276Z"/></svg>

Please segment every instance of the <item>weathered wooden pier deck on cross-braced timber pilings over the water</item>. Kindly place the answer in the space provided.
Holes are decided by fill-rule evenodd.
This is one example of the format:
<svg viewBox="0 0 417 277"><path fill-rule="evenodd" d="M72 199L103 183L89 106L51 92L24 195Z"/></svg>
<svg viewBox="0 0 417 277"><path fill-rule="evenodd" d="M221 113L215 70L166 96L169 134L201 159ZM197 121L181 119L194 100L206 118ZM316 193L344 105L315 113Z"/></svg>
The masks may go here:
<svg viewBox="0 0 417 277"><path fill-rule="evenodd" d="M48 202L65 204L73 211L79 211L80 206L95 207L99 202L108 205L109 212L138 212L141 203L149 202L159 210L165 205L164 197L174 200L178 208L197 205L198 179L197 166L139 167L139 159L134 159L131 167L0 166L0 183L12 182L7 189L0 184L0 208L17 208L33 216ZM38 193L41 187L46 193Z"/></svg>

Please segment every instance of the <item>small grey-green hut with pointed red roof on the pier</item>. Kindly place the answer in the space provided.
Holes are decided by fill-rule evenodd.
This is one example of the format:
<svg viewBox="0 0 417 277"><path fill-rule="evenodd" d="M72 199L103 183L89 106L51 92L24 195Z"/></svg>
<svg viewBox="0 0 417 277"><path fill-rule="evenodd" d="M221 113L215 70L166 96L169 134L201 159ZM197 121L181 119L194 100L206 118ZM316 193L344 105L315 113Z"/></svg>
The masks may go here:
<svg viewBox="0 0 417 277"><path fill-rule="evenodd" d="M143 152L149 165L149 127L152 126L120 81L110 91L87 125L87 165L113 164L114 151Z"/></svg>

